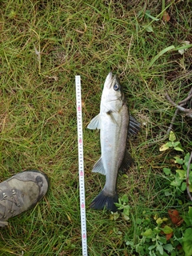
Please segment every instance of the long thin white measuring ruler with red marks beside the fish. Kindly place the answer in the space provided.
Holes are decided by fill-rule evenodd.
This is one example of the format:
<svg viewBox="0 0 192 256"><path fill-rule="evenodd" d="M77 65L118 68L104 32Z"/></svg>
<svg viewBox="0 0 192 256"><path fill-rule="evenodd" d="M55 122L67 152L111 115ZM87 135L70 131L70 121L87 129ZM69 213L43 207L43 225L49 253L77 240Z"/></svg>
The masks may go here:
<svg viewBox="0 0 192 256"><path fill-rule="evenodd" d="M82 228L82 255L88 256L87 241L86 241L86 199L85 199L83 141L82 141L82 90L81 90L82 88L81 88L80 75L75 76L75 88L76 88L77 122L78 122L78 176L79 176L81 228Z"/></svg>

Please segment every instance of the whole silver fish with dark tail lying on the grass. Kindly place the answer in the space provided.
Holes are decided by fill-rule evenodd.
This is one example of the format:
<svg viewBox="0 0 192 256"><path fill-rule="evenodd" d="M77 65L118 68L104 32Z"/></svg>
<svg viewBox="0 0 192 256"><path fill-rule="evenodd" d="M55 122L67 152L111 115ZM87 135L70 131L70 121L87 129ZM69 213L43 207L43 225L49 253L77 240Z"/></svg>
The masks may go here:
<svg viewBox="0 0 192 256"><path fill-rule="evenodd" d="M117 211L119 170L127 170L134 159L126 149L127 138L138 134L140 123L130 115L118 75L110 72L102 90L100 113L87 126L100 130L101 158L93 166L94 173L106 175L103 190L90 203L95 210Z"/></svg>

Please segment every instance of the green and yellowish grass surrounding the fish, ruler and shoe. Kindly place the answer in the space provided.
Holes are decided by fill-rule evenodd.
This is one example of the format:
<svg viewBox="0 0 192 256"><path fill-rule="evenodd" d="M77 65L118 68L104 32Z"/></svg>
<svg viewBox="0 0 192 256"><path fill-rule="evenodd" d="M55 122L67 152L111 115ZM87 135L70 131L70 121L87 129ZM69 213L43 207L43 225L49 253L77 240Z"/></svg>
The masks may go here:
<svg viewBox="0 0 192 256"><path fill-rule="evenodd" d="M166 133L174 114L165 90L175 102L190 90L191 48L184 55L165 50L192 42L190 1L167 3L170 22L162 21L162 2L155 0L2 0L0 6L0 179L30 168L50 178L46 198L1 230L0 255L82 254L76 74L82 78L89 255L134 255L125 236L137 239L144 229L137 219L166 215L171 207L182 212L189 203L165 197L162 168L171 157L159 152L160 142L148 145ZM149 24L154 32L146 31ZM89 208L105 178L91 173L100 155L99 133L86 126L98 114L110 70L119 74L130 112L142 123L130 141L136 165L118 178L120 196L129 198L129 222ZM191 120L178 115L174 131L190 150Z"/></svg>

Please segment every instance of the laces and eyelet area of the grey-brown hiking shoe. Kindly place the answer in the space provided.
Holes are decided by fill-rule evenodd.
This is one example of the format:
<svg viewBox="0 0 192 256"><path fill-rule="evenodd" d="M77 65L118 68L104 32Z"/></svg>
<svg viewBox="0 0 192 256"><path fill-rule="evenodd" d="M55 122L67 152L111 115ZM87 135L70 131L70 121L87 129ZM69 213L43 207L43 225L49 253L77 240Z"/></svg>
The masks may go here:
<svg viewBox="0 0 192 256"><path fill-rule="evenodd" d="M2 215L2 219L7 219L14 216L14 211L18 210L18 207L21 205L15 190L12 190L11 196L8 196L6 192L2 192L2 197L3 199L0 201L0 209L3 210L0 214Z"/></svg>

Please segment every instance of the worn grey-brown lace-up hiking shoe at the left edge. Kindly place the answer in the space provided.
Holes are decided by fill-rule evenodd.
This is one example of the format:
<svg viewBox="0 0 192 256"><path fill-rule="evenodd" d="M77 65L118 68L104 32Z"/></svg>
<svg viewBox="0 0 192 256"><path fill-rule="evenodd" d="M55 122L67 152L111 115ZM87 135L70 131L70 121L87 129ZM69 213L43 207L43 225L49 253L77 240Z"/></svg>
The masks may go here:
<svg viewBox="0 0 192 256"><path fill-rule="evenodd" d="M47 189L48 178L38 170L26 170L0 183L0 227L8 224L8 218L35 206Z"/></svg>

